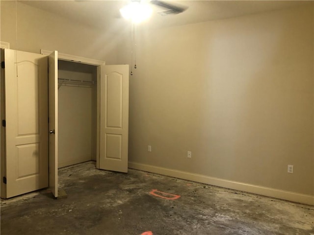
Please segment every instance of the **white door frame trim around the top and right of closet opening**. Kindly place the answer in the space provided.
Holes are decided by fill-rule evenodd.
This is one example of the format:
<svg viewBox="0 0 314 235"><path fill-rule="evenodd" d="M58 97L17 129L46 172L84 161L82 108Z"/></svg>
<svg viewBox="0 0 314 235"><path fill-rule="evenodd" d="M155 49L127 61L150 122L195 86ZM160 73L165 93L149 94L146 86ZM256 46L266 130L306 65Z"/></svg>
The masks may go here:
<svg viewBox="0 0 314 235"><path fill-rule="evenodd" d="M50 50L40 50L40 54L43 55L50 55L52 51ZM81 63L81 64L87 64L87 65L94 65L97 66L97 130L96 130L96 167L99 168L99 157L100 157L100 67L105 65L105 61L102 60L95 60L95 59L89 59L85 57L80 57L76 55L69 55L58 52L58 59Z"/></svg>

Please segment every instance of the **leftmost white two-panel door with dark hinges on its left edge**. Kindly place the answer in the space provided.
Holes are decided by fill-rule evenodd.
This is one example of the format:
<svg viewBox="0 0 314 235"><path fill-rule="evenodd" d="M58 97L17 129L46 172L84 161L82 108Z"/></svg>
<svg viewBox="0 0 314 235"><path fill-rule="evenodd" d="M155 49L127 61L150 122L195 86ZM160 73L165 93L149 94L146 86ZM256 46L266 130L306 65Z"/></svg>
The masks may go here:
<svg viewBox="0 0 314 235"><path fill-rule="evenodd" d="M4 50L5 193L48 187L47 56Z"/></svg>

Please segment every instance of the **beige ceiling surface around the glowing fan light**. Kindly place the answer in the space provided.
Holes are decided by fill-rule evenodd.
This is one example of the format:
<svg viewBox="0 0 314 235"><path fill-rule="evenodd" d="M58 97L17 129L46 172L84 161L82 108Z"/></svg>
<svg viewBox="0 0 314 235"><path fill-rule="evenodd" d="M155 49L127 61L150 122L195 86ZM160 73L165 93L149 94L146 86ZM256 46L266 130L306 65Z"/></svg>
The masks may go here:
<svg viewBox="0 0 314 235"><path fill-rule="evenodd" d="M113 24L125 24L119 9L128 4L129 0L22 0L20 2L80 24L106 29ZM157 28L192 24L311 4L311 1L300 0L167 0L167 2L188 9L181 14L161 16L157 12L164 9L151 4L153 16L141 23L141 26Z"/></svg>

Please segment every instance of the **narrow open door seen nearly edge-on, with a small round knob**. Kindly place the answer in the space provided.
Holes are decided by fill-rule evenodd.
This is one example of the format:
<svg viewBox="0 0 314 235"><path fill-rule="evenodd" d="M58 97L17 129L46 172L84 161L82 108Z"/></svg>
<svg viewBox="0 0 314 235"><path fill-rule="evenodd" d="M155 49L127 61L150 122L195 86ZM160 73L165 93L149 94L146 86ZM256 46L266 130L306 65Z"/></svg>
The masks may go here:
<svg viewBox="0 0 314 235"><path fill-rule="evenodd" d="M58 197L58 52L48 56L49 187Z"/></svg>

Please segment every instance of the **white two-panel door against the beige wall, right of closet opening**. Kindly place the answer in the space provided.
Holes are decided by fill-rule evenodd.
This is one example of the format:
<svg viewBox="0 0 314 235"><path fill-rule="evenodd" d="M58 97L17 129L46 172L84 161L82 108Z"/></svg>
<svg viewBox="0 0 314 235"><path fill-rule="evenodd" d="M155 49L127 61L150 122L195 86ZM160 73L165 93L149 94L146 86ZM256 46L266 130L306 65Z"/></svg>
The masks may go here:
<svg viewBox="0 0 314 235"><path fill-rule="evenodd" d="M99 168L128 172L129 65L101 66Z"/></svg>

